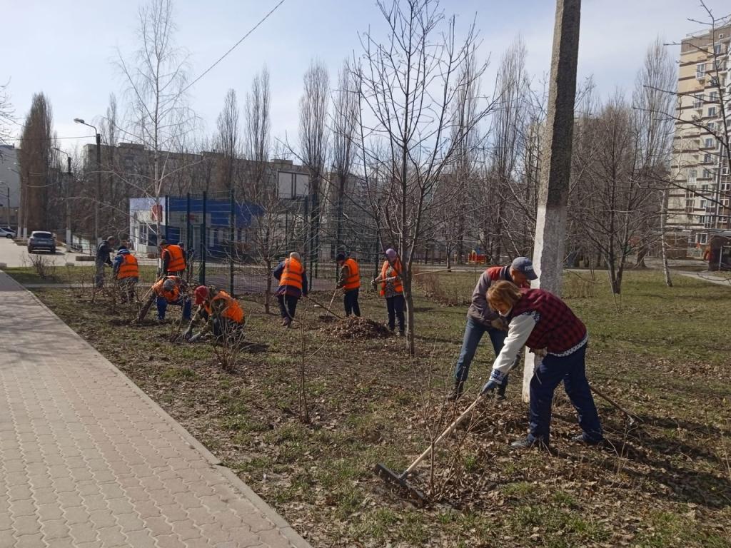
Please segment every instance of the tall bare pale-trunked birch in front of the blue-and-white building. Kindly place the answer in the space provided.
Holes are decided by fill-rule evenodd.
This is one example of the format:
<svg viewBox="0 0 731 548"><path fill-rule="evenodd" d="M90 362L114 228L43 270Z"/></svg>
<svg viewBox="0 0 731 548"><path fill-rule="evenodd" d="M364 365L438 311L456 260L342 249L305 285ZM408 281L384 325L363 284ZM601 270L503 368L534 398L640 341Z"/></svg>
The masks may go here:
<svg viewBox="0 0 731 548"><path fill-rule="evenodd" d="M126 79L131 125L126 134L150 151L141 170L145 194L159 207L172 172L181 169L169 162L176 137L191 128L192 113L186 104L187 55L175 45L171 0L150 0L140 8L137 34L140 47L130 60L118 56ZM156 218L160 235L160 218Z"/></svg>

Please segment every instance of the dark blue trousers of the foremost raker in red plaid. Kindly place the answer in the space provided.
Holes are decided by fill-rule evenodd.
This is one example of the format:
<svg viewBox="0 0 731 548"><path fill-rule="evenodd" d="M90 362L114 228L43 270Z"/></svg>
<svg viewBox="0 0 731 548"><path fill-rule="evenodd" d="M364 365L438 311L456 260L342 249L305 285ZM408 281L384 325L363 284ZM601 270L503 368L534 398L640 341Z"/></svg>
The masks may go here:
<svg viewBox="0 0 731 548"><path fill-rule="evenodd" d="M531 378L530 439L539 438L548 444L550 438L553 392L561 381L579 415L579 425L586 437L602 439L602 425L596 412L594 397L586 380L586 344L568 356L543 358Z"/></svg>

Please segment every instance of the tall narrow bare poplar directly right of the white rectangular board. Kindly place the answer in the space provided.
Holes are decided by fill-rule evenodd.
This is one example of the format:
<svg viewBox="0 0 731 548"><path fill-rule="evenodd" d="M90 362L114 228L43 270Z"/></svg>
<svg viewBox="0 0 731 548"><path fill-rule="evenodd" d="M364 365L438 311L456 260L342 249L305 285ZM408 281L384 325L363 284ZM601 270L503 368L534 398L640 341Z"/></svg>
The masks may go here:
<svg viewBox="0 0 731 548"><path fill-rule="evenodd" d="M305 245L305 260L312 275L317 275L319 254L322 191L327 169L329 132L327 110L330 102L330 77L322 61L312 61L304 76L300 98L300 158L308 170L309 188L306 200L309 234Z"/></svg>

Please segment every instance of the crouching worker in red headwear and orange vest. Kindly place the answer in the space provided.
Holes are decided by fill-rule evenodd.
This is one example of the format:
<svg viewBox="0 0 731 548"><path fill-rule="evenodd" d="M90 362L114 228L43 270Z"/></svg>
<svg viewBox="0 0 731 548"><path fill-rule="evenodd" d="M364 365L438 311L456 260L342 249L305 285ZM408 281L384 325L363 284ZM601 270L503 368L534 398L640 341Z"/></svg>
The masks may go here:
<svg viewBox="0 0 731 548"><path fill-rule="evenodd" d="M243 335L246 317L238 300L230 294L213 286L197 286L194 299L198 310L183 333L183 338L194 343L211 330L219 341L231 342ZM193 326L199 319L204 319L205 324L200 332L193 335Z"/></svg>

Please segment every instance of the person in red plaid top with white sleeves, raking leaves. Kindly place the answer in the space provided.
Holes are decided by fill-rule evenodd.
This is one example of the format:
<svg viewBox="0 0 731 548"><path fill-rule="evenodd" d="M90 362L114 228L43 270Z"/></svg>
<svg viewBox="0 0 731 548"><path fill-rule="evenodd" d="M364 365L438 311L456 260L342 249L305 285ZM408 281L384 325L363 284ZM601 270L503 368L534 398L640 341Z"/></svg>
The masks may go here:
<svg viewBox="0 0 731 548"><path fill-rule="evenodd" d="M561 381L583 430L573 440L587 445L602 442L602 425L586 380L588 334L582 321L556 295L543 289L518 288L509 281L493 283L487 300L509 323L504 345L493 363L490 380L482 387L482 394L492 392L504 382L523 345L544 356L531 378L528 437L515 441L512 446L548 449L553 392Z"/></svg>

